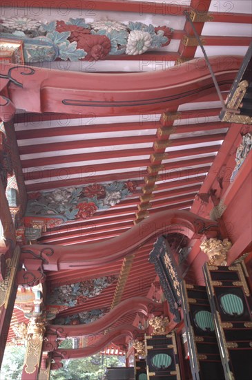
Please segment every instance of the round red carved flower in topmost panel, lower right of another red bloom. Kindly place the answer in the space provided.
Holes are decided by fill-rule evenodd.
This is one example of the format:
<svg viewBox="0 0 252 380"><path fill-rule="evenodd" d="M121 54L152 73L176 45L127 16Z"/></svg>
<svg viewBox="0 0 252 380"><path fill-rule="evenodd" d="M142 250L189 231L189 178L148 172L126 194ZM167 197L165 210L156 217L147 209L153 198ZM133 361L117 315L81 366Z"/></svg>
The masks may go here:
<svg viewBox="0 0 252 380"><path fill-rule="evenodd" d="M79 38L77 48L84 49L86 53L85 61L98 61L104 59L110 52L110 39L101 35L84 35Z"/></svg>

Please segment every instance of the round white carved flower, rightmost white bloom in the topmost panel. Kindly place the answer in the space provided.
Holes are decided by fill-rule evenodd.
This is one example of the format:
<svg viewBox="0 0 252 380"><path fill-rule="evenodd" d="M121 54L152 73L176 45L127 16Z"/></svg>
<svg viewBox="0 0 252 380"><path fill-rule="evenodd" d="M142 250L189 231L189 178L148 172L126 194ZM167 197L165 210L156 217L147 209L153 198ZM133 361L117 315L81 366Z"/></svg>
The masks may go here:
<svg viewBox="0 0 252 380"><path fill-rule="evenodd" d="M137 55L146 52L151 47L152 37L149 32L132 30L128 36L126 54Z"/></svg>

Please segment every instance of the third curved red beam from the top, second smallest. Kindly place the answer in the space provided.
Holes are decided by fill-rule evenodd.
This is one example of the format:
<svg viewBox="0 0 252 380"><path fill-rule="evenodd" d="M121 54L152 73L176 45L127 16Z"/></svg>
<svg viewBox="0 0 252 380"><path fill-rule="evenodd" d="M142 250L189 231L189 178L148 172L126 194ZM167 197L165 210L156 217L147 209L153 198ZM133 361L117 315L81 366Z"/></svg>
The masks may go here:
<svg viewBox="0 0 252 380"><path fill-rule="evenodd" d="M57 336L64 337L95 334L106 330L128 312L140 312L147 316L154 310L162 311L162 304L146 297L132 297L119 303L113 310L110 310L95 322L81 325L48 325L47 332L48 334L56 333Z"/></svg>

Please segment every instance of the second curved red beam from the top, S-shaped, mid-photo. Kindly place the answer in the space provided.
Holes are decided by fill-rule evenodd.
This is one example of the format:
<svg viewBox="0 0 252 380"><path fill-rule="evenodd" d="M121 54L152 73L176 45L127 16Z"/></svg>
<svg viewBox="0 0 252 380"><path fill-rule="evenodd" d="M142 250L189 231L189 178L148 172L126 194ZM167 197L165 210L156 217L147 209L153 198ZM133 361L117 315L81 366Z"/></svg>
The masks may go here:
<svg viewBox="0 0 252 380"><path fill-rule="evenodd" d="M128 231L102 243L82 245L25 245L21 249L21 261L25 258L39 258L43 269L81 269L99 267L115 262L135 252L153 237L179 232L188 238L200 238L203 234L217 231L217 222L204 219L190 211L160 211ZM213 236L213 235L212 235Z"/></svg>

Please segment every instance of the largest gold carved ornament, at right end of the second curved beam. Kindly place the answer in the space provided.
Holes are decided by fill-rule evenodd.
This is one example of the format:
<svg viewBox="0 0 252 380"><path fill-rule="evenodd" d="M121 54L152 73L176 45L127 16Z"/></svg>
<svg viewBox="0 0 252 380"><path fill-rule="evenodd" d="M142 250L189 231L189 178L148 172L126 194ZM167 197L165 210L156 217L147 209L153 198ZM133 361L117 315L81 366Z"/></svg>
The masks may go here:
<svg viewBox="0 0 252 380"><path fill-rule="evenodd" d="M211 265L223 265L226 266L227 252L231 249L232 243L229 239L219 240L217 238L211 238L204 240L200 245L200 248L209 258Z"/></svg>

